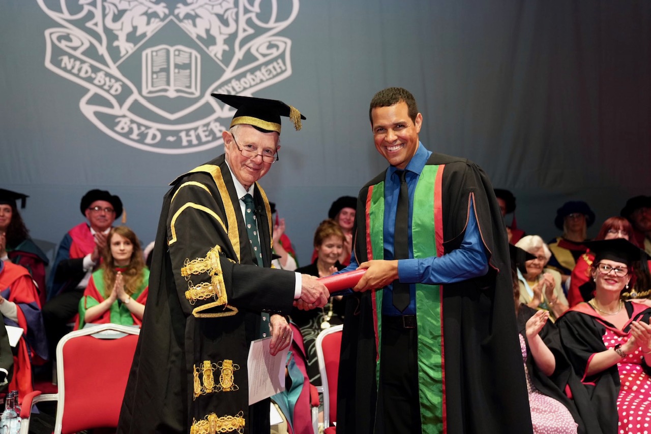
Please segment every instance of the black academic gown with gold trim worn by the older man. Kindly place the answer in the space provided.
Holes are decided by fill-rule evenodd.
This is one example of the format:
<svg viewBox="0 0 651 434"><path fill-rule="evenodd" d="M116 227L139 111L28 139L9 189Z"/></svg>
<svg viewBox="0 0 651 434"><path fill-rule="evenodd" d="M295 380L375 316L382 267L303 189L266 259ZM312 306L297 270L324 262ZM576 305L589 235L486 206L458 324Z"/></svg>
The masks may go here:
<svg viewBox="0 0 651 434"><path fill-rule="evenodd" d="M256 184L260 267L223 155L172 185L118 432L189 433L193 423L194 432L210 424L219 432L268 432L269 400L248 405L249 344L262 311L290 312L295 284L294 272L266 268L268 200ZM230 363L234 370L223 369Z"/></svg>

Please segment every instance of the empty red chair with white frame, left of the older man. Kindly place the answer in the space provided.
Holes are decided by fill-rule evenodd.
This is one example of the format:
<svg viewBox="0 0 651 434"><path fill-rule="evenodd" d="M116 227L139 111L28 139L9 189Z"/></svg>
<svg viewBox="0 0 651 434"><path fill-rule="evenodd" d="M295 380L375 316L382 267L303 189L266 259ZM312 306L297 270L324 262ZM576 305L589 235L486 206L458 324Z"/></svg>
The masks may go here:
<svg viewBox="0 0 651 434"><path fill-rule="evenodd" d="M125 335L126 334L126 335ZM21 433L29 431L33 403L57 401L55 434L115 428L140 329L102 324L72 331L57 345L55 394L23 398Z"/></svg>

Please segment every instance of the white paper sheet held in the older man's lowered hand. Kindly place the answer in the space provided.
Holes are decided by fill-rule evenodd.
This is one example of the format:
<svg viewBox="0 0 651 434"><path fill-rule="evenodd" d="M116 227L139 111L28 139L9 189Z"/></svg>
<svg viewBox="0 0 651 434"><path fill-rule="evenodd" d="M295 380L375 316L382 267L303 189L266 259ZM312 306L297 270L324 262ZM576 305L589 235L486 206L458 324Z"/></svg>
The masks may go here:
<svg viewBox="0 0 651 434"><path fill-rule="evenodd" d="M251 342L249 350L249 405L284 390L285 362L289 346L277 355L269 353L271 337Z"/></svg>

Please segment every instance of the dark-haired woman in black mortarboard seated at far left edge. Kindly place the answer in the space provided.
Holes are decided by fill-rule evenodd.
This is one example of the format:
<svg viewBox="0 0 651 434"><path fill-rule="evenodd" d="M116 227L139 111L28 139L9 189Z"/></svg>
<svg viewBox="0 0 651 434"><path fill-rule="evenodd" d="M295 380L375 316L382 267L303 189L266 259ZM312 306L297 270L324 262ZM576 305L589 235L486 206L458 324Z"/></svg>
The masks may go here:
<svg viewBox="0 0 651 434"><path fill-rule="evenodd" d="M30 238L16 201L25 208L29 196L0 188L0 259L27 268L38 287L41 305L46 299L45 269L48 257Z"/></svg>

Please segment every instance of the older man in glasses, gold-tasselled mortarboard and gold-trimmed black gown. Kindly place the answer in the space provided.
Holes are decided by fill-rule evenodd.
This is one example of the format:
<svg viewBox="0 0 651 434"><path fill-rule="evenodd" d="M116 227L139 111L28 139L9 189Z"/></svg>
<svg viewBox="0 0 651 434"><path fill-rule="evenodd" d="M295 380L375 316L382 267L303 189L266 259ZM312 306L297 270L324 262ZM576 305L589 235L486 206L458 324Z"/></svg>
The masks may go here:
<svg viewBox="0 0 651 434"><path fill-rule="evenodd" d="M271 267L271 209L258 185L279 160L281 101L213 94L237 109L225 153L178 177L165 196L143 327L118 433L268 433L270 400L249 405L251 342L286 348L285 318L323 307L326 287ZM284 366L284 360L282 364Z"/></svg>

